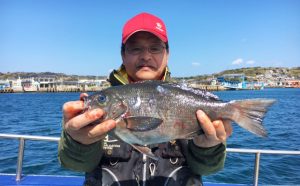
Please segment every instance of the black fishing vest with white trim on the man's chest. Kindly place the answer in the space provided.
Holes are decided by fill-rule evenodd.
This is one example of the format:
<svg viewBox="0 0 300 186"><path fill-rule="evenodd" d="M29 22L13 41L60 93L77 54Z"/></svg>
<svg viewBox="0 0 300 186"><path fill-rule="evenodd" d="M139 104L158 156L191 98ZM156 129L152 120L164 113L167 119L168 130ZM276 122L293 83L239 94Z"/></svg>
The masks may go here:
<svg viewBox="0 0 300 186"><path fill-rule="evenodd" d="M202 185L201 176L188 168L184 152L187 140L151 146L153 160L129 144L112 137L104 139L104 155L98 167L86 173L85 186L186 186Z"/></svg>

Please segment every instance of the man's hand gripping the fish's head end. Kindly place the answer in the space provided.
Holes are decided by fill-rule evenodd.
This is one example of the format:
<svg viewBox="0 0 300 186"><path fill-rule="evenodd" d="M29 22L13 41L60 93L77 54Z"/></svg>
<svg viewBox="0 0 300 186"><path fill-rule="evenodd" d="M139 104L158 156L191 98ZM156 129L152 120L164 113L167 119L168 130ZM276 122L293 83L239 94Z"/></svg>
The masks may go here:
<svg viewBox="0 0 300 186"><path fill-rule="evenodd" d="M89 125L104 115L102 109L94 109L82 113L84 109L83 98L80 101L70 101L63 105L64 130L77 142L88 145L103 139L107 132L116 126L114 120L106 120L96 125Z"/></svg>

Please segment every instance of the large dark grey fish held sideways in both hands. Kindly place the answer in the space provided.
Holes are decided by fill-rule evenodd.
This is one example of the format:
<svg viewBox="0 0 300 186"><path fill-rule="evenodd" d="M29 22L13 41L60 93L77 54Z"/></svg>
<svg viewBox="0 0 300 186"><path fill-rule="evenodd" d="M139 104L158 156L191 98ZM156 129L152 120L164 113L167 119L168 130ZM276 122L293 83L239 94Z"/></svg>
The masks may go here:
<svg viewBox="0 0 300 186"><path fill-rule="evenodd" d="M86 98L85 107L104 109L103 120L117 121L112 133L147 154L136 145L191 139L203 133L196 118L198 109L211 120L229 119L258 136L266 136L262 118L274 102L273 99L223 102L212 93L183 84L144 81L97 92Z"/></svg>

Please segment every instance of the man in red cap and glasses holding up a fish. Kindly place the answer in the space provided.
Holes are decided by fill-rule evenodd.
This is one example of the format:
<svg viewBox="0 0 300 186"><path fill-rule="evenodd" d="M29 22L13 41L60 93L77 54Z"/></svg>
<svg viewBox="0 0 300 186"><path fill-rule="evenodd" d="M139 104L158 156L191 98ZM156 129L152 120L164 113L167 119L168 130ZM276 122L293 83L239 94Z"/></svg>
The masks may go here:
<svg viewBox="0 0 300 186"><path fill-rule="evenodd" d="M170 80L168 37L160 18L141 13L130 19L123 28L121 55L121 67L109 76L112 86ZM229 122L211 121L199 110L195 117L205 134L151 145L159 156L153 160L107 135L116 126L114 120L89 125L105 113L101 109L82 113L85 96L64 104L59 144L61 165L86 172L85 185L201 185L201 175L223 168L224 143L232 132Z"/></svg>

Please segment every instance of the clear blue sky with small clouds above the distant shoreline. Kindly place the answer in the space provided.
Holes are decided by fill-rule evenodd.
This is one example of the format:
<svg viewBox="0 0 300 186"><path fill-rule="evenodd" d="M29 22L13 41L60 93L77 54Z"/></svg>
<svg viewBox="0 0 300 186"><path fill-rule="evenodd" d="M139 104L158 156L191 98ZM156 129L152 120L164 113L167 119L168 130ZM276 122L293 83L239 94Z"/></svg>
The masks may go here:
<svg viewBox="0 0 300 186"><path fill-rule="evenodd" d="M0 0L0 72L106 76L141 12L167 26L172 76L300 66L299 0Z"/></svg>

